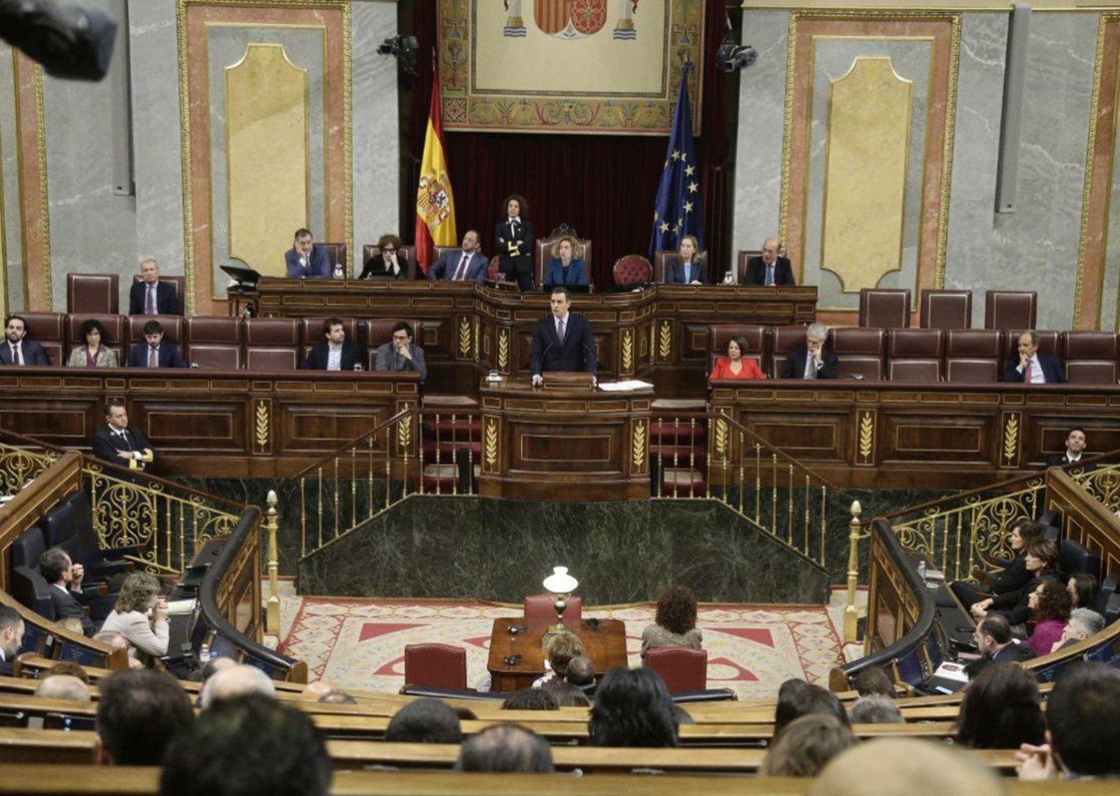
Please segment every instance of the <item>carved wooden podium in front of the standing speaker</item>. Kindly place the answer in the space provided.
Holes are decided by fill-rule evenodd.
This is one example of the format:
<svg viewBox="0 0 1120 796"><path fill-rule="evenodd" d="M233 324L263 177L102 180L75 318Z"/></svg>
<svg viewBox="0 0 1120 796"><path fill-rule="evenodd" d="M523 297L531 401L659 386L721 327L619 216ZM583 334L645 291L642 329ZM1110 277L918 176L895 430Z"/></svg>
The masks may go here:
<svg viewBox="0 0 1120 796"><path fill-rule="evenodd" d="M545 374L543 387L528 376L482 382L478 493L580 503L650 497L653 390L557 381Z"/></svg>

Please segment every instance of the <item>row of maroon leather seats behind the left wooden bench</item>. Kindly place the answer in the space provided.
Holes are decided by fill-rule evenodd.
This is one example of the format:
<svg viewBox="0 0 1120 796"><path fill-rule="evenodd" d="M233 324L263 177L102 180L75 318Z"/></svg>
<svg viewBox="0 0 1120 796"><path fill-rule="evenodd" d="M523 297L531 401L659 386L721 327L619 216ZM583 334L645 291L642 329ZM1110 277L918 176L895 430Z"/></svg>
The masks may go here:
<svg viewBox="0 0 1120 796"><path fill-rule="evenodd" d="M311 346L324 340L326 318L227 318L225 316L122 316L63 312L24 312L28 337L46 350L52 365L65 365L71 352L85 345L82 324L95 318L105 327L104 345L116 350L123 364L132 346L143 343L143 327L158 320L164 337L180 346L193 366L223 371L290 371L307 358ZM342 318L346 339L366 350L368 369L377 348L392 339L393 320ZM408 321L420 338L420 324Z"/></svg>

